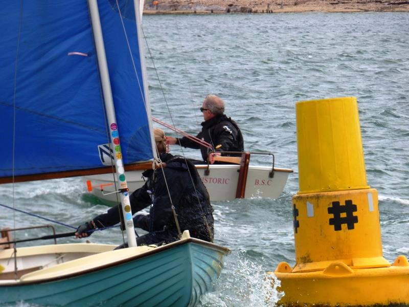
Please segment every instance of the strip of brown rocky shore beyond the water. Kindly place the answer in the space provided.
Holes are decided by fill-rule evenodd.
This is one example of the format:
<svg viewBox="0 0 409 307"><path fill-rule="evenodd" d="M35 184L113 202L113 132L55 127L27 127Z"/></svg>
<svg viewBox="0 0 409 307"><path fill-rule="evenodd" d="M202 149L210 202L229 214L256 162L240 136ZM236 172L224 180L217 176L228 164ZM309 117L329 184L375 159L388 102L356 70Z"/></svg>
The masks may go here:
<svg viewBox="0 0 409 307"><path fill-rule="evenodd" d="M148 1L144 14L408 12L407 0L160 0Z"/></svg>

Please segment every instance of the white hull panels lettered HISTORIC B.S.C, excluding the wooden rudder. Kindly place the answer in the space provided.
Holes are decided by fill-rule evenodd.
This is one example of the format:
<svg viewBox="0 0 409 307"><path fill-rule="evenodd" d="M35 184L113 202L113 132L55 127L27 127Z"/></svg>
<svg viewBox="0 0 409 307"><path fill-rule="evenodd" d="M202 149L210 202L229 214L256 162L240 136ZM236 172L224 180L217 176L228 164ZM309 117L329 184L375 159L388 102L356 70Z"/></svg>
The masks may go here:
<svg viewBox="0 0 409 307"><path fill-rule="evenodd" d="M208 189L211 201L229 201L236 198L239 165L210 165L208 175L205 174L208 169L207 165L196 165L196 168L202 182ZM126 180L131 192L142 187L145 183L142 172L127 172ZM250 165L248 167L244 198L278 198L284 190L290 172L292 172L291 169L275 168L274 176L271 178L271 167ZM118 203L116 193L106 195L115 191L115 186L104 186L103 191L98 188L101 184L112 183L112 174L87 176L84 179L92 182L95 187L93 194L107 205Z"/></svg>

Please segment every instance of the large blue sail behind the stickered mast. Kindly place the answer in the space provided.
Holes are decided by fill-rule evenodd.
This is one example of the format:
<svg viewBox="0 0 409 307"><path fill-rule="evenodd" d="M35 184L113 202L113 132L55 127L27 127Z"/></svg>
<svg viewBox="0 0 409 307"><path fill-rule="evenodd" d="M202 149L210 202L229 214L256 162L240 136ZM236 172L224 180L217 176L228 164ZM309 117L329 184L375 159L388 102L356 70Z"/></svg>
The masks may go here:
<svg viewBox="0 0 409 307"><path fill-rule="evenodd" d="M119 3L98 1L128 164L153 150L133 4ZM86 1L6 1L2 10L0 177L102 167L98 145L110 139Z"/></svg>

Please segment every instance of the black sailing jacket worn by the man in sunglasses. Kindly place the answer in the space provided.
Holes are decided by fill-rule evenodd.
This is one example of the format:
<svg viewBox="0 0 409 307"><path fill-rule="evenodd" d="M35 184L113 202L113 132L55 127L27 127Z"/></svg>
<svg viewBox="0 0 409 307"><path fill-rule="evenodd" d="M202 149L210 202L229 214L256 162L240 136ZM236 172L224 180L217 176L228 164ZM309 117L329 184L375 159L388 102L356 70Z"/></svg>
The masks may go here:
<svg viewBox="0 0 409 307"><path fill-rule="evenodd" d="M224 114L216 115L215 117L202 122L201 125L201 132L196 137L212 144L215 151L244 151L244 141L240 128L230 117L227 117ZM186 137L178 140L180 141L181 146L194 149L200 148L203 161L207 162L208 153L210 151L209 148L200 146ZM178 144L178 142L176 142L176 144ZM225 154L223 156L240 156L240 154Z"/></svg>

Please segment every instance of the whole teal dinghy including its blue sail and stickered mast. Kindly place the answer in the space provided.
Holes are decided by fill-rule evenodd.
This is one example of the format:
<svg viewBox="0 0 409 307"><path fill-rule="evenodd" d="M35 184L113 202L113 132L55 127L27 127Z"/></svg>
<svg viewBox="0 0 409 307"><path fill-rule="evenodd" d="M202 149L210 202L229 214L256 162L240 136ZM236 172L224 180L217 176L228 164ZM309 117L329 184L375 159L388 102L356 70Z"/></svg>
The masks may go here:
<svg viewBox="0 0 409 307"><path fill-rule="evenodd" d="M136 246L125 170L160 163L139 2L7 1L0 10L0 183L115 170L129 244L17 243L0 251L0 303L195 305L229 249L188 232Z"/></svg>

